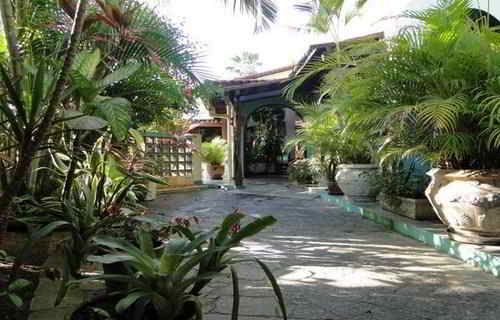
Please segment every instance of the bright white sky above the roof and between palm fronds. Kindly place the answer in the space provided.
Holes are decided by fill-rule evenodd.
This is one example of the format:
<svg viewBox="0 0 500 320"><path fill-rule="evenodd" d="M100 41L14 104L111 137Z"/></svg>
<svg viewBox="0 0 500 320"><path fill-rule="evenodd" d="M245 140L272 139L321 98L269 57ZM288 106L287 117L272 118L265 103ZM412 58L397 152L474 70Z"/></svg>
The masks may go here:
<svg viewBox="0 0 500 320"><path fill-rule="evenodd" d="M274 0L279 7L278 21L271 29L255 34L254 20L250 16L234 13L224 6L223 0L163 0L158 7L160 13L175 22L183 23L185 32L195 41L204 44L204 63L218 79L230 79L234 74L225 68L231 57L243 51L258 53L266 71L294 64L307 51L309 45L331 42L329 34L318 35L301 30L308 16L293 8L295 0ZM228 1L232 3L232 1ZM302 2L302 1L300 1ZM352 4L347 1L348 5ZM386 36L396 32L405 22L393 17L408 8L424 8L436 0L369 0L361 16L342 28L341 39L384 31ZM486 8L488 0L474 0ZM499 7L500 1L490 1Z"/></svg>

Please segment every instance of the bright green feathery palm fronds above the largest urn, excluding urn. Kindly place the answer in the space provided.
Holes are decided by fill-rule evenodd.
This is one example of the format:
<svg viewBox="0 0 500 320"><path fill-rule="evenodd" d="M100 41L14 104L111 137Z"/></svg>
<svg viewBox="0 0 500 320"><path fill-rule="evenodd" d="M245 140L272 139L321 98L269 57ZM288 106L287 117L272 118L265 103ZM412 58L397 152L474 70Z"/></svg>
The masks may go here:
<svg viewBox="0 0 500 320"><path fill-rule="evenodd" d="M500 167L500 37L470 10L470 1L443 0L406 12L419 24L390 50L351 55L353 68L326 79L352 127L383 137L382 162L417 155L450 169Z"/></svg>

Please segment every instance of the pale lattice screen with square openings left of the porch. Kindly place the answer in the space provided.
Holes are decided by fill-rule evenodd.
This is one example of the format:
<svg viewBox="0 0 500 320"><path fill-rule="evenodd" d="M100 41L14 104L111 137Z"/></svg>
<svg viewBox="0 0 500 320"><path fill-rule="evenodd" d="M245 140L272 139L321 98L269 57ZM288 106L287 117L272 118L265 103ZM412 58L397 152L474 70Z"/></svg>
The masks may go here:
<svg viewBox="0 0 500 320"><path fill-rule="evenodd" d="M144 134L146 157L153 163L154 174L161 177L193 175L192 137L165 133Z"/></svg>

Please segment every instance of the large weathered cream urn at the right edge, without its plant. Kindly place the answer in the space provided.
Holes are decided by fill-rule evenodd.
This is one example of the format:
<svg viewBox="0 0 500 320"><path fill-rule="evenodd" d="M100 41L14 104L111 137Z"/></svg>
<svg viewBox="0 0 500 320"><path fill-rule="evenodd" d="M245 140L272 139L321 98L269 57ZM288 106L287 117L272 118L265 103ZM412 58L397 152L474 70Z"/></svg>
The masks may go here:
<svg viewBox="0 0 500 320"><path fill-rule="evenodd" d="M450 238L500 244L500 171L432 169L425 194Z"/></svg>

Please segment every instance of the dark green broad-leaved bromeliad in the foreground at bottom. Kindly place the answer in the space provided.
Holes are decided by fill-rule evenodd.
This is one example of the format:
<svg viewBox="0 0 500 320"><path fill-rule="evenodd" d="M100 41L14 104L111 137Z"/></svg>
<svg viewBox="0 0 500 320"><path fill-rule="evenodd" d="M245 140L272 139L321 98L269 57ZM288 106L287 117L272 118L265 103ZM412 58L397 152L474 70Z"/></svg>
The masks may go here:
<svg viewBox="0 0 500 320"><path fill-rule="evenodd" d="M255 261L270 280L283 318L287 319L283 295L269 268L257 258L239 257L230 251L240 246L243 239L254 236L276 220L267 216L240 226L244 217L236 210L226 216L221 226L208 232L192 232L189 228L177 225L183 237L170 239L160 247L153 246L148 232L139 233L138 245L123 239L97 238L96 244L108 248L112 253L90 256L89 260L105 264L124 262L129 270L128 274L92 278L128 284L126 292L115 293L117 299L114 310L106 311L118 316L118 319L122 319L125 312L136 315L137 319L160 319L164 316L173 320L202 319L203 305L199 299L202 290L223 271L229 271L234 295L232 314L233 319L236 319L239 289L234 265Z"/></svg>

